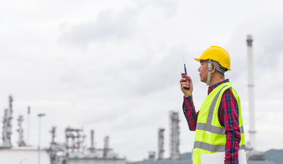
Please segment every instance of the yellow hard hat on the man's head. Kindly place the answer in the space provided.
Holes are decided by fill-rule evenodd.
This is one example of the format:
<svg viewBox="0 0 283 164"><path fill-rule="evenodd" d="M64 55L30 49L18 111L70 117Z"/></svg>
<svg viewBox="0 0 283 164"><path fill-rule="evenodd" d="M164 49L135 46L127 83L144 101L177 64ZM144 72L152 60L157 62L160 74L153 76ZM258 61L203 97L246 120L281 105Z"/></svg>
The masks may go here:
<svg viewBox="0 0 283 164"><path fill-rule="evenodd" d="M218 61L220 66L224 68L230 69L230 55L229 53L220 46L210 46L210 48L206 49L199 59L194 58L196 61L211 59L214 61Z"/></svg>

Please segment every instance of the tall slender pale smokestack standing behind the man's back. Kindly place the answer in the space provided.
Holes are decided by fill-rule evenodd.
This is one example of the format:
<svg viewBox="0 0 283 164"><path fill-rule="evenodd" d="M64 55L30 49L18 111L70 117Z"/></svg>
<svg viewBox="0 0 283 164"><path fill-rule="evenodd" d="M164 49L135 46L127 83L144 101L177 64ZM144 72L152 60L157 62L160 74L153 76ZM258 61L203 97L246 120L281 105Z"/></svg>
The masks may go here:
<svg viewBox="0 0 283 164"><path fill-rule="evenodd" d="M255 127L255 111L253 98L253 38L247 36L247 67L248 67L248 94L249 94L249 139L251 150L256 150L256 127Z"/></svg>

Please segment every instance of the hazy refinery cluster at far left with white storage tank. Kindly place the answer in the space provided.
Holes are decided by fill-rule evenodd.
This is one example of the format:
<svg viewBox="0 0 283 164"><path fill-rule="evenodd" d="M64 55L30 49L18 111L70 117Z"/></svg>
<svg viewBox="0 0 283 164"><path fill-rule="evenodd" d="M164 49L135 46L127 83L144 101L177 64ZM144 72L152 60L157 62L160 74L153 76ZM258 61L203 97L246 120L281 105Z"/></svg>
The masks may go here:
<svg viewBox="0 0 283 164"><path fill-rule="evenodd" d="M109 136L104 137L104 148L95 148L94 130L90 132L91 145L85 146L84 139L86 135L80 128L65 128L65 143L56 142L56 126L49 131L52 136L49 148L41 149L40 143L38 148L27 146L23 139L23 115L19 115L18 120L18 145L12 146L12 102L13 97L9 96L9 107L4 110L3 117L3 143L0 146L1 161L9 164L16 163L43 163L43 164L88 164L88 163L117 163L126 164L126 159L119 158L118 154L113 152L109 146ZM30 107L28 107L30 114ZM38 117L45 114L40 113ZM40 132L39 132L40 137ZM40 139L39 139L40 141Z"/></svg>

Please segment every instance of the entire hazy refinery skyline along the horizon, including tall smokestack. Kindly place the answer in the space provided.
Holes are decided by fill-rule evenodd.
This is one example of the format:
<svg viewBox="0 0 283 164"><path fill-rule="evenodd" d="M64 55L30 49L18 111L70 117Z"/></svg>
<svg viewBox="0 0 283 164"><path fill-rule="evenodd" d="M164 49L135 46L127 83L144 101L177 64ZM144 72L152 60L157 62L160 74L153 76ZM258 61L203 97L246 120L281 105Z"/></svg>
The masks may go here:
<svg viewBox="0 0 283 164"><path fill-rule="evenodd" d="M255 128L255 109L254 109L254 98L253 98L253 55L252 55L252 42L251 36L247 36L247 64L248 66L248 93L249 93L249 138L250 141L247 144L247 163L248 164L272 164L271 161L265 159L264 154L256 151L256 128ZM126 158L121 158L118 152L115 152L109 145L111 137L104 137L104 147L96 148L94 144L95 131L94 129L89 132L90 145L85 145L85 139L87 133L82 128L65 128L65 142L60 143L56 141L56 126L52 126L49 130L51 141L49 148L41 148L40 143L38 147L34 148L27 145L23 137L23 115L19 115L18 121L18 145L12 146L11 135L12 135L12 119L13 119L13 96L8 97L8 108L4 110L3 116L3 130L2 130L2 142L0 146L0 159L1 161L9 161L9 164L16 163L42 163L42 164L89 164L89 163L115 163L115 164L190 164L192 158L183 160L181 159L181 153L179 150L180 145L180 128L179 128L179 112L169 112L170 126L166 128L157 129L157 153L154 151L148 152L148 159L143 161L127 161ZM30 107L28 107L28 113L30 113ZM44 113L38 114L38 117L44 116ZM29 115L27 116L27 124L29 127ZM27 133L29 133L27 128ZM164 141L164 131L169 131L170 141L166 143ZM38 131L40 137L40 130ZM27 138L27 141L29 139ZM40 141L40 139L39 139ZM164 156L164 144L170 146L170 156L165 158ZM192 148L188 148L192 150ZM147 153L147 152L141 152Z"/></svg>

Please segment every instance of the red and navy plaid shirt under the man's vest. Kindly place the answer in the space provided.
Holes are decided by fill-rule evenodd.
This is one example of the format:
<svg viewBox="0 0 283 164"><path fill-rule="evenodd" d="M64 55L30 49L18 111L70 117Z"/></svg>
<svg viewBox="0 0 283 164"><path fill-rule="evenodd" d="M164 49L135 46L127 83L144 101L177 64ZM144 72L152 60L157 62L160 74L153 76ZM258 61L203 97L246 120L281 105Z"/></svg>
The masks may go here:
<svg viewBox="0 0 283 164"><path fill-rule="evenodd" d="M222 83L229 82L229 79L208 87L208 94ZM183 113L187 119L190 131L196 131L196 121L199 111L196 113L192 96L183 100ZM226 131L225 164L238 163L238 149L240 143L240 128L238 120L238 103L231 90L223 93L218 109L218 120Z"/></svg>

